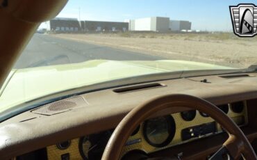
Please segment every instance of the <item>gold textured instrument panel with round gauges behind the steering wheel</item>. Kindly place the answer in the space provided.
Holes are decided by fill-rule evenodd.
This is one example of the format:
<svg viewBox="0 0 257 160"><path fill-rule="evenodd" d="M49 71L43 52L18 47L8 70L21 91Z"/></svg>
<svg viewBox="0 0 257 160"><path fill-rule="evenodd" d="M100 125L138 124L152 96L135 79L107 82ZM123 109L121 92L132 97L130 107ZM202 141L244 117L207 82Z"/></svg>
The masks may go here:
<svg viewBox="0 0 257 160"><path fill-rule="evenodd" d="M239 126L247 125L246 102L235 102L218 107ZM156 129L156 126L159 127ZM51 145L47 147L47 157L48 159L60 159L62 157L69 157L69 159L101 159L101 153L112 131L103 131L99 134L74 138ZM222 127L217 122L199 111L184 111L151 118L142 122L135 129L126 146L124 146L122 155L131 151L156 152L221 132L223 132Z"/></svg>

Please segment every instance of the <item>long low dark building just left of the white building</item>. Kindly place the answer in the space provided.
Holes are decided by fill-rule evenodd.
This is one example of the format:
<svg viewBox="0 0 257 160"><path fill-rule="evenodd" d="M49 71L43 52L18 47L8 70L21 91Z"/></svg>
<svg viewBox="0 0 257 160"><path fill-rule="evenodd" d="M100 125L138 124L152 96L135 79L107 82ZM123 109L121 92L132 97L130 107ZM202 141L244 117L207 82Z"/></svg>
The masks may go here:
<svg viewBox="0 0 257 160"><path fill-rule="evenodd" d="M82 31L128 31L128 22L81 21Z"/></svg>

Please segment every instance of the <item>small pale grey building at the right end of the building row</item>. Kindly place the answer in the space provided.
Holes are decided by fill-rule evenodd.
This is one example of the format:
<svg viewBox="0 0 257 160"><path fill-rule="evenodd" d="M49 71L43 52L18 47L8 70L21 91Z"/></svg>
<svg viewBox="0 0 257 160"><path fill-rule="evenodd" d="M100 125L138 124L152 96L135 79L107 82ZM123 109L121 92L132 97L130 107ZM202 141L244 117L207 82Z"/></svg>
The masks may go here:
<svg viewBox="0 0 257 160"><path fill-rule="evenodd" d="M169 29L171 31L189 31L191 30L191 22L171 20L169 22Z"/></svg>

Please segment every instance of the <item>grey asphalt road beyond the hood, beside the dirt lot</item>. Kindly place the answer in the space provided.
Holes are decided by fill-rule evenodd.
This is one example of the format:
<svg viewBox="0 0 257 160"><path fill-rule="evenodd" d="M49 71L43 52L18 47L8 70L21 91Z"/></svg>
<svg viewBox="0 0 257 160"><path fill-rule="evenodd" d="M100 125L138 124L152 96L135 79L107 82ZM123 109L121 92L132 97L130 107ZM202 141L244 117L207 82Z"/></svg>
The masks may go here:
<svg viewBox="0 0 257 160"><path fill-rule="evenodd" d="M94 59L153 61L162 58L35 33L14 67L40 67Z"/></svg>

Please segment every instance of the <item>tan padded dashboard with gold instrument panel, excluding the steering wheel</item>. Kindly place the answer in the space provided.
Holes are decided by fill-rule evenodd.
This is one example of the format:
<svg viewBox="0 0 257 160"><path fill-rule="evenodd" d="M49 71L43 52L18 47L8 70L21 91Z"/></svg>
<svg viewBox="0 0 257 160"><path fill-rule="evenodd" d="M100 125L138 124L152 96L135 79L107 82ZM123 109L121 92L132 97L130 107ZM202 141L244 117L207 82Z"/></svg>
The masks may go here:
<svg viewBox="0 0 257 160"><path fill-rule="evenodd" d="M257 78L256 74L242 75L168 79L76 95L1 122L0 134L15 137L15 131L23 129L17 140L13 138L21 147L26 145L21 138L32 137L35 143L26 145L23 154L13 157L17 160L101 159L115 127L128 111L156 95L181 93L201 97L219 107L256 145L256 150ZM202 79L208 79L208 83ZM135 153L206 159L226 141L226 131L206 113L186 106L175 110L160 111L141 122L126 141L121 159L129 159Z"/></svg>

